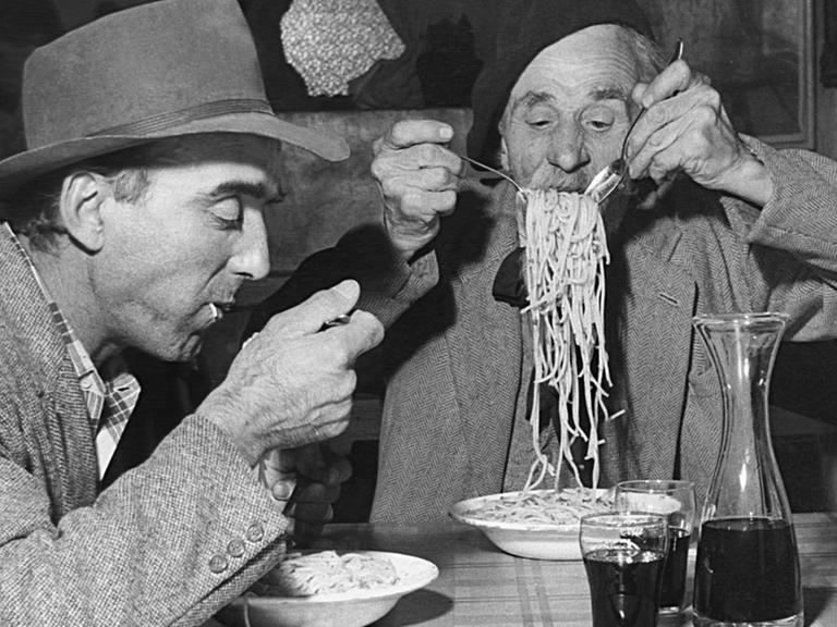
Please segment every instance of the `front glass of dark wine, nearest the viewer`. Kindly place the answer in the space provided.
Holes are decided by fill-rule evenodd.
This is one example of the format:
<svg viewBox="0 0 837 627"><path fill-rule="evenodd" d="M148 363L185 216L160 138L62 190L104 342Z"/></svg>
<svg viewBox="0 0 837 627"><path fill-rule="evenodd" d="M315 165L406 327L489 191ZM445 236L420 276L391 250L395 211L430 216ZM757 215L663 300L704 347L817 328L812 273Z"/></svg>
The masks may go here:
<svg viewBox="0 0 837 627"><path fill-rule="evenodd" d="M606 512L581 519L579 543L593 627L655 627L668 551L668 519Z"/></svg>

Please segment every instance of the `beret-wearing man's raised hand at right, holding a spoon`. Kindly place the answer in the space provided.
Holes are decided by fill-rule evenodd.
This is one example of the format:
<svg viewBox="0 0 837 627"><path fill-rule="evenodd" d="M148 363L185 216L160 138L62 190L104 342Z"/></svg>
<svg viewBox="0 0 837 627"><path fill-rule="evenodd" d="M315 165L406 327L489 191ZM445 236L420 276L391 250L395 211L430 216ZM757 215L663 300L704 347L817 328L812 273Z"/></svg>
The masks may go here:
<svg viewBox="0 0 837 627"><path fill-rule="evenodd" d="M709 189L763 206L773 193L767 169L741 142L708 78L675 61L632 98L647 111L628 140L632 179L665 185L678 172Z"/></svg>

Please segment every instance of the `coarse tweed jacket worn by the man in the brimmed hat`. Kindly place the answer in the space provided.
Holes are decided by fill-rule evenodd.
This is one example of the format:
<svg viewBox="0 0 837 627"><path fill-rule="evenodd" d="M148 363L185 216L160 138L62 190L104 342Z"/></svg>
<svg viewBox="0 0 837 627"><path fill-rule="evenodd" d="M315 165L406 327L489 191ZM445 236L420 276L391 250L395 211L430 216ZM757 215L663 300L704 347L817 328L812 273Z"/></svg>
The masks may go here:
<svg viewBox="0 0 837 627"><path fill-rule="evenodd" d="M0 268L0 624L201 624L275 563L281 504L199 416L100 492L66 348L4 238Z"/></svg>

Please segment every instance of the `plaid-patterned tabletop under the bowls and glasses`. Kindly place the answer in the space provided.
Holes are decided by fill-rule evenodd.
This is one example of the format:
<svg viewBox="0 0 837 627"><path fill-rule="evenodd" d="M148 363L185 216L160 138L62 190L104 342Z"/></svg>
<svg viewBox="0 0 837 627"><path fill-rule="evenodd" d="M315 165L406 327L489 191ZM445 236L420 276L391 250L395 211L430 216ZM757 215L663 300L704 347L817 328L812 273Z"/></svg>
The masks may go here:
<svg viewBox="0 0 837 627"><path fill-rule="evenodd" d="M805 625L835 627L837 515L798 514L794 527ZM408 553L439 567L436 581L402 598L375 627L590 627L590 594L580 561L513 557L480 530L459 522L330 525L319 544Z"/></svg>

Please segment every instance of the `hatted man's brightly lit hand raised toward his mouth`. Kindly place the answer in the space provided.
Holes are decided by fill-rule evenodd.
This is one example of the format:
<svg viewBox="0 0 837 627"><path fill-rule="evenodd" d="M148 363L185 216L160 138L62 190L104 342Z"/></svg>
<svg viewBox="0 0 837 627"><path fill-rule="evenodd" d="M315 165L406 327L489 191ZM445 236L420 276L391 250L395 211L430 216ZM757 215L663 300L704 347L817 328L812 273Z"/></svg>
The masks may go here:
<svg viewBox="0 0 837 627"><path fill-rule="evenodd" d="M274 316L197 408L251 466L271 448L320 442L348 427L355 359L381 341L384 328L365 311L354 311L347 324L322 327L349 312L359 295L355 281L343 281Z"/></svg>

